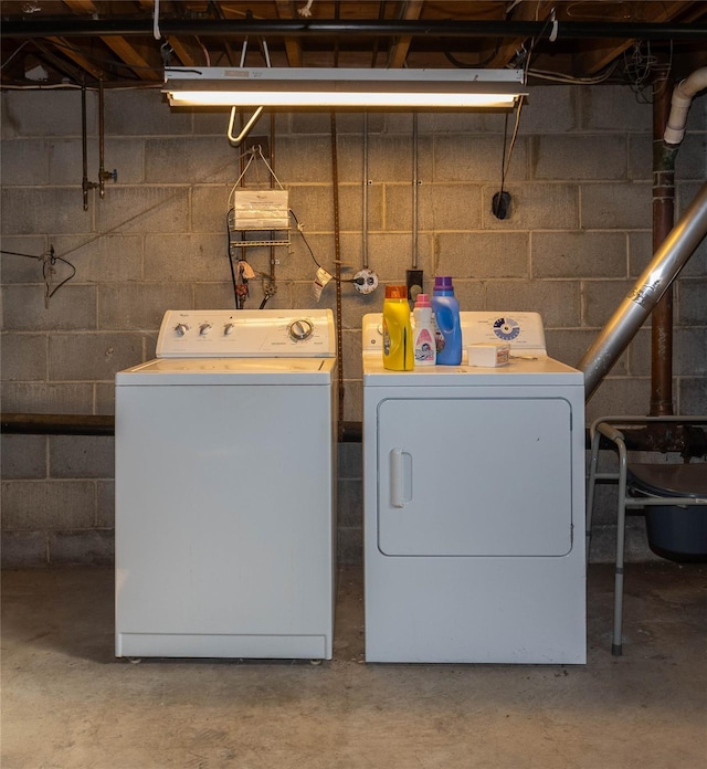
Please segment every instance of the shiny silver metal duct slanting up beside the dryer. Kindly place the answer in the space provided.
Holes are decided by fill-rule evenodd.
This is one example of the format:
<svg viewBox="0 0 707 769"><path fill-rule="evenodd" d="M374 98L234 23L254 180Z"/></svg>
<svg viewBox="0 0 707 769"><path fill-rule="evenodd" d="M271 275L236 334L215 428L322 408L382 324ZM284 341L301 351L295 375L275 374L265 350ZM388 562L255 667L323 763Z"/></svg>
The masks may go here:
<svg viewBox="0 0 707 769"><path fill-rule="evenodd" d="M577 365L584 372L585 400L594 394L665 289L707 233L707 183L655 252L653 260Z"/></svg>

